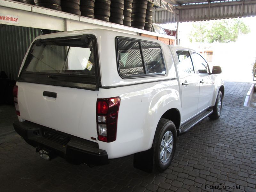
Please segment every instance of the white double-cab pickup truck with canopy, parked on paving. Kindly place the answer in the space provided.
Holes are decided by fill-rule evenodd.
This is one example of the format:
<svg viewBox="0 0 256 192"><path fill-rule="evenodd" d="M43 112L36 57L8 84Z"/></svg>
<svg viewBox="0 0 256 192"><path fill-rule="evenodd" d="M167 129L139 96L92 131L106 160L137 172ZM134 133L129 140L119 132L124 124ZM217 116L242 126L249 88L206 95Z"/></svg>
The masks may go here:
<svg viewBox="0 0 256 192"><path fill-rule="evenodd" d="M44 159L134 167L172 162L177 136L217 119L224 84L194 50L91 29L38 36L22 62L14 129Z"/></svg>

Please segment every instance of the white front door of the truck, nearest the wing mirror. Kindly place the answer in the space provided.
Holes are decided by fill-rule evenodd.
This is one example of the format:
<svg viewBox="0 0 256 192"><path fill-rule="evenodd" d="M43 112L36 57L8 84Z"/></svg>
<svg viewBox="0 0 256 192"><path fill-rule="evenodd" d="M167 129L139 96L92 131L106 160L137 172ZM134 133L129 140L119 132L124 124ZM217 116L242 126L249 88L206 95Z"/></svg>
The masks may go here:
<svg viewBox="0 0 256 192"><path fill-rule="evenodd" d="M214 82L210 75L208 63L204 58L196 52L193 52L193 63L199 76L200 91L198 100L197 113L208 108L212 104L212 96L214 92Z"/></svg>

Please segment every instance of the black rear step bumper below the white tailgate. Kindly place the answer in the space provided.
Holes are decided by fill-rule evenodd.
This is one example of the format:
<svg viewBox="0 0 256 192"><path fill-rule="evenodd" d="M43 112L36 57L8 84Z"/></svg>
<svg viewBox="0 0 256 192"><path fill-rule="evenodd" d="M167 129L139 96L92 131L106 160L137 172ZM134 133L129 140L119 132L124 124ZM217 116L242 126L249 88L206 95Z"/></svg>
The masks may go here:
<svg viewBox="0 0 256 192"><path fill-rule="evenodd" d="M108 164L108 154L98 143L59 132L29 121L14 122L15 131L33 147L44 147L68 161Z"/></svg>

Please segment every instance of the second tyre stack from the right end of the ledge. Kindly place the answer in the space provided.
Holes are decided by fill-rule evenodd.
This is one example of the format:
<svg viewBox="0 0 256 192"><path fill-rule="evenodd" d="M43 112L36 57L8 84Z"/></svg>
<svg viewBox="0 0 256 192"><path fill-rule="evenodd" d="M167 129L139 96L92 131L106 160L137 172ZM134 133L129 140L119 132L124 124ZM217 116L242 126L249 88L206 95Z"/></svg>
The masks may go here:
<svg viewBox="0 0 256 192"><path fill-rule="evenodd" d="M148 1L133 0L132 2L132 27L144 29Z"/></svg>

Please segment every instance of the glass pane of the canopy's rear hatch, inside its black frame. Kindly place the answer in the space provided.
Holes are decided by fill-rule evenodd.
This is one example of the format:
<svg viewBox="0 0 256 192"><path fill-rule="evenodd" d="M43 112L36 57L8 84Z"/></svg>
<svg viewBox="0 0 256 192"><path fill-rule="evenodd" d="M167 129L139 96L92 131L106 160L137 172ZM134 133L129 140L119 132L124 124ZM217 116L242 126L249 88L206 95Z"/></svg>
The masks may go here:
<svg viewBox="0 0 256 192"><path fill-rule="evenodd" d="M33 44L23 71L50 74L95 75L93 41L53 40Z"/></svg>

